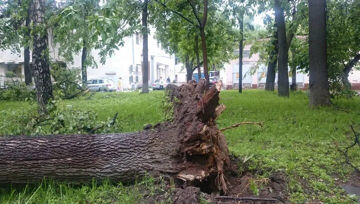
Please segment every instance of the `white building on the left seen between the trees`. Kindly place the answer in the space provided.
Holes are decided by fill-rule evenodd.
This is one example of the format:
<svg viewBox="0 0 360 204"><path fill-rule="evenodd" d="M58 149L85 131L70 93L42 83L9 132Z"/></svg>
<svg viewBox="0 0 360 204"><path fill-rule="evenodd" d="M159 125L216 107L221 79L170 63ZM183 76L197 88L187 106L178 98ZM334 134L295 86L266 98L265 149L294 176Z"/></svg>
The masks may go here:
<svg viewBox="0 0 360 204"><path fill-rule="evenodd" d="M50 34L48 36L51 36ZM142 36L136 33L124 39L124 46L114 50L111 57L107 57L105 64L100 63L98 50L91 50L91 55L98 68L87 68L87 79L105 77L117 82L122 78L123 89L142 87ZM63 62L58 55L58 46L53 46L49 39L50 59L53 62ZM67 67L81 67L81 53L73 55L73 63L67 63ZM153 38L153 33L148 35L148 83L149 86L162 77L175 78L175 58L166 54L161 45ZM30 65L32 63L30 53ZM50 67L51 68L51 67ZM11 53L10 50L0 50L0 76L12 71L16 74L15 80L24 80L23 49L21 53ZM5 78L0 77L0 85L4 86Z"/></svg>

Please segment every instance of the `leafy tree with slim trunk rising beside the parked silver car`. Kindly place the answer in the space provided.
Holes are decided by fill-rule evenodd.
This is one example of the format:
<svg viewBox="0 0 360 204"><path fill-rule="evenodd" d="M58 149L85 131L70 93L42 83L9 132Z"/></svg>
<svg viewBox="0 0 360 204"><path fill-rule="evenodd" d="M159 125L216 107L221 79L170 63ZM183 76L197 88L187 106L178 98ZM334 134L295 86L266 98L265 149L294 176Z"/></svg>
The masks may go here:
<svg viewBox="0 0 360 204"><path fill-rule="evenodd" d="M89 16L99 10L98 0L69 0L49 19L54 24L54 42L59 44L59 55L73 63L74 54L81 55L81 81L86 84L87 67L96 66L91 49L98 43L95 28L89 26Z"/></svg>

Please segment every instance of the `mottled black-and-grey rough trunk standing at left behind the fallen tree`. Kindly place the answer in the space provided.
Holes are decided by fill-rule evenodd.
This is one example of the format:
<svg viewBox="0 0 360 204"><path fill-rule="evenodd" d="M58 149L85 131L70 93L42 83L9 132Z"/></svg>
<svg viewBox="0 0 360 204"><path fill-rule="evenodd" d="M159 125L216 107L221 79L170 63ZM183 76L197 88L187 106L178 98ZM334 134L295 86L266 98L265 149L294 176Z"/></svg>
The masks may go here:
<svg viewBox="0 0 360 204"><path fill-rule="evenodd" d="M33 24L44 23L45 2L43 0L33 1ZM50 69L48 63L47 30L41 30L33 34L32 67L36 87L37 104L39 112L46 113L46 104L52 98L52 86Z"/></svg>

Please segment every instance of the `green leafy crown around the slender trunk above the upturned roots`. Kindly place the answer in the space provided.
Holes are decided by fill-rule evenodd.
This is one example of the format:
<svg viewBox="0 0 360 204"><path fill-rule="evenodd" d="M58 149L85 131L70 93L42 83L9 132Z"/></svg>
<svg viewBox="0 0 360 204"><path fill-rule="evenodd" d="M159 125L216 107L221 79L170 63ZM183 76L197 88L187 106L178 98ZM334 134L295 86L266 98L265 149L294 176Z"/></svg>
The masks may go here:
<svg viewBox="0 0 360 204"><path fill-rule="evenodd" d="M161 43L161 47L168 53L176 54L181 62L185 62L185 57L189 57L192 64L195 64L195 37L197 37L199 57L202 61L200 31L196 25L198 21L191 5L185 0L158 1L165 3L166 7L157 1L153 2L149 6L152 11L150 11L149 22L155 27L155 38ZM196 15L201 18L202 3L200 1L193 3L198 7ZM217 68L222 68L223 63L234 58L233 50L237 45L236 39L238 39L238 32L221 13L220 6L221 3L217 0L209 1L205 27L208 64L215 64ZM191 23L173 11L181 13Z"/></svg>

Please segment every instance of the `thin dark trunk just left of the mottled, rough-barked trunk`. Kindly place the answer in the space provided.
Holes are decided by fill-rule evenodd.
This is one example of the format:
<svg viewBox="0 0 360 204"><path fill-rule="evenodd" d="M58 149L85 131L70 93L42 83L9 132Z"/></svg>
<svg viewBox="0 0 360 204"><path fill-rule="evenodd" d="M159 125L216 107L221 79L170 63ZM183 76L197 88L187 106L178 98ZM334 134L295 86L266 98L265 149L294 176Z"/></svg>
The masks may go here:
<svg viewBox="0 0 360 204"><path fill-rule="evenodd" d="M32 83L32 70L30 68L30 47L28 46L28 41L30 40L30 21L31 21L31 0L29 0L29 4L27 7L27 15L25 18L25 39L26 46L24 47L24 76L25 76L25 84L30 85Z"/></svg>

